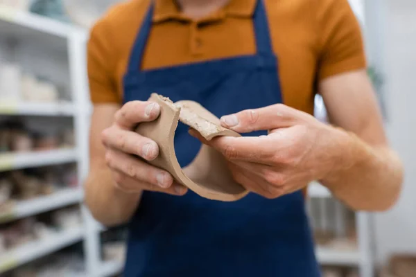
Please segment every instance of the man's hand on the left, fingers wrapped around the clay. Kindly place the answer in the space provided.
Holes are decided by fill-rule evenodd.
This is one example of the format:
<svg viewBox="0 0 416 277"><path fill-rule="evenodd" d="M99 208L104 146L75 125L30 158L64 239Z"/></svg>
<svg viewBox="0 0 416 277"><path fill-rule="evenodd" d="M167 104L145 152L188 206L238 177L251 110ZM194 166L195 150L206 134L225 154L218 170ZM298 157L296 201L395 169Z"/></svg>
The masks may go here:
<svg viewBox="0 0 416 277"><path fill-rule="evenodd" d="M128 102L116 112L112 126L102 133L105 161L112 170L114 185L125 193L142 190L171 195L187 193L187 188L177 184L171 174L146 163L156 159L159 147L155 141L133 131L138 124L155 120L159 113L160 107L155 102Z"/></svg>

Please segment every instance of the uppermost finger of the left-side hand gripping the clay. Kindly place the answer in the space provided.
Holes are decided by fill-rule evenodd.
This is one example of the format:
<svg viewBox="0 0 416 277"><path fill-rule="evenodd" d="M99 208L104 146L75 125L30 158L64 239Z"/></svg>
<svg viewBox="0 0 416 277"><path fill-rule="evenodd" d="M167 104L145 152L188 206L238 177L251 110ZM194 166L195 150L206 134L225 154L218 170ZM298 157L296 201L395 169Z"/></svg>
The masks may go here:
<svg viewBox="0 0 416 277"><path fill-rule="evenodd" d="M119 126L132 129L138 123L155 120L159 114L160 106L156 102L131 101L116 112L115 120Z"/></svg>

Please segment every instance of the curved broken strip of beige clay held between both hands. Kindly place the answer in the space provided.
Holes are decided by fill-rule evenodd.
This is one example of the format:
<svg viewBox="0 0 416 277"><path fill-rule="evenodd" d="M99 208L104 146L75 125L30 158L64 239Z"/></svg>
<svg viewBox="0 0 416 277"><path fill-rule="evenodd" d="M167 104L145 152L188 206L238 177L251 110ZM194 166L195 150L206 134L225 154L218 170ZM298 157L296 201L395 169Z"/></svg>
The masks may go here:
<svg viewBox="0 0 416 277"><path fill-rule="evenodd" d="M167 170L177 182L208 199L231 202L248 194L232 179L223 155L214 148L202 145L196 158L182 170L173 145L179 120L196 129L208 141L216 136L240 134L220 126L220 120L197 102L180 101L174 104L156 93L152 93L149 101L160 105L160 116L155 121L140 123L136 132L159 145L159 156L150 164Z"/></svg>

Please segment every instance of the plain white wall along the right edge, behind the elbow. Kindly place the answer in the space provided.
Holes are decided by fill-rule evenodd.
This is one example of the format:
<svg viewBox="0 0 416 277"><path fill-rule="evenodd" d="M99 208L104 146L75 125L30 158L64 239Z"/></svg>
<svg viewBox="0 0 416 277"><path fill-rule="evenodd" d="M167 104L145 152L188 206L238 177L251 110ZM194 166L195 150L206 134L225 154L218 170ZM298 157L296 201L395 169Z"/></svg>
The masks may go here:
<svg viewBox="0 0 416 277"><path fill-rule="evenodd" d="M374 216L381 262L395 252L416 253L416 1L365 3L370 62L384 75L388 136L406 170L397 206Z"/></svg>

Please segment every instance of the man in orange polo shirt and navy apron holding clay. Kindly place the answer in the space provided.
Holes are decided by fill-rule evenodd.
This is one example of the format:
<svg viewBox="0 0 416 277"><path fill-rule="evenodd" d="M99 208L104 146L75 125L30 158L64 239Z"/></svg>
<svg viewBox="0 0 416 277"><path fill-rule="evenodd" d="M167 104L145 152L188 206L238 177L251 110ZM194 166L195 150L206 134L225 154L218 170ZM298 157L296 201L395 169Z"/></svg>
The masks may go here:
<svg viewBox="0 0 416 277"><path fill-rule="evenodd" d="M88 57L86 199L103 224L129 222L127 277L320 276L307 184L320 180L367 211L399 195L401 163L385 139L347 0L132 0L98 21ZM248 196L203 199L146 163L158 145L132 130L159 116L146 101L152 92L200 102L249 135L207 142L191 130L224 154ZM331 126L311 116L316 92ZM181 166L198 139L177 128Z"/></svg>

